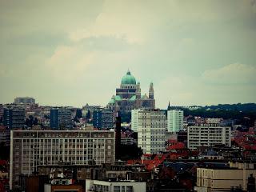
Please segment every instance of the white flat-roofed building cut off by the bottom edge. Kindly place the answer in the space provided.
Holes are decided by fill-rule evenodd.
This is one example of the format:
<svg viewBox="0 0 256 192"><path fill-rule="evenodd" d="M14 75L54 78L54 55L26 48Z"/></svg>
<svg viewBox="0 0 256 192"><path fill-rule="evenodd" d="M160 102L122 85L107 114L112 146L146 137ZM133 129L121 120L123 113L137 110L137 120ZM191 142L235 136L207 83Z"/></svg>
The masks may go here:
<svg viewBox="0 0 256 192"><path fill-rule="evenodd" d="M146 182L131 182L131 181L106 182L106 181L86 179L86 191L146 192Z"/></svg>

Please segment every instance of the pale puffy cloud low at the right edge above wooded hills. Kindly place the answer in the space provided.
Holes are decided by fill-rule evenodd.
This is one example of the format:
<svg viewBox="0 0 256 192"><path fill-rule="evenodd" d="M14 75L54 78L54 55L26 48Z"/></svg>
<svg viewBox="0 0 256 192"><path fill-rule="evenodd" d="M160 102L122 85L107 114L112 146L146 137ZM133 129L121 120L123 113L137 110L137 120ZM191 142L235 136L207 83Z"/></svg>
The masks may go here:
<svg viewBox="0 0 256 192"><path fill-rule="evenodd" d="M203 80L222 84L244 84L256 82L256 67L241 63L233 63L215 70L206 70Z"/></svg>

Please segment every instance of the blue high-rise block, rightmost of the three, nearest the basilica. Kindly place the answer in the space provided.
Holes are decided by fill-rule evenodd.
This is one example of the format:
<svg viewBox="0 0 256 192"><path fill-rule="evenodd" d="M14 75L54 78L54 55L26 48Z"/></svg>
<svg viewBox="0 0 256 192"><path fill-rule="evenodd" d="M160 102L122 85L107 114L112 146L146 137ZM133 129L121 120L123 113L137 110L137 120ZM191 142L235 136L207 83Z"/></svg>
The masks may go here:
<svg viewBox="0 0 256 192"><path fill-rule="evenodd" d="M93 125L99 129L113 129L114 128L114 113L112 110L94 110Z"/></svg>

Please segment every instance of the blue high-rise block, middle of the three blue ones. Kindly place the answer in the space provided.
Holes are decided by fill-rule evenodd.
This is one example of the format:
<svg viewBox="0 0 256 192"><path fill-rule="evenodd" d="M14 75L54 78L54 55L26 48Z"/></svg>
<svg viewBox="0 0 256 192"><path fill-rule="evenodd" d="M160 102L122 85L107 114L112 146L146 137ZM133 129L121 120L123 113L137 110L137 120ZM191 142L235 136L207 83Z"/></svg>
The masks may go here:
<svg viewBox="0 0 256 192"><path fill-rule="evenodd" d="M50 109L50 128L54 130L72 129L71 110L66 107Z"/></svg>

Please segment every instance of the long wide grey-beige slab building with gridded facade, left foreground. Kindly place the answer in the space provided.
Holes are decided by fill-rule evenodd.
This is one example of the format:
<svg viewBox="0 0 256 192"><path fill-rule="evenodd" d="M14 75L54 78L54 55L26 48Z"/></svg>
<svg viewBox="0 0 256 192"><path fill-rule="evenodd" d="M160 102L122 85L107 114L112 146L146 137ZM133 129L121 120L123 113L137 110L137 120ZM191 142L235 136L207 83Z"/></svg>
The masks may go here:
<svg viewBox="0 0 256 192"><path fill-rule="evenodd" d="M38 165L114 163L114 130L11 130L10 189Z"/></svg>

